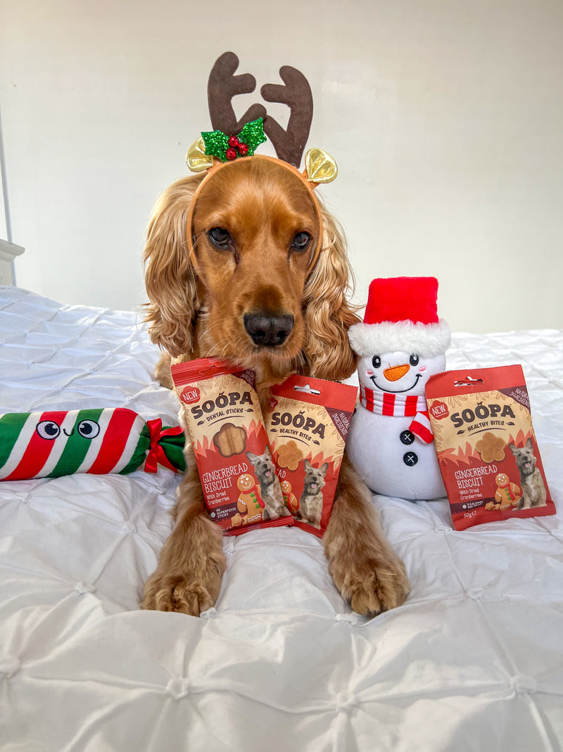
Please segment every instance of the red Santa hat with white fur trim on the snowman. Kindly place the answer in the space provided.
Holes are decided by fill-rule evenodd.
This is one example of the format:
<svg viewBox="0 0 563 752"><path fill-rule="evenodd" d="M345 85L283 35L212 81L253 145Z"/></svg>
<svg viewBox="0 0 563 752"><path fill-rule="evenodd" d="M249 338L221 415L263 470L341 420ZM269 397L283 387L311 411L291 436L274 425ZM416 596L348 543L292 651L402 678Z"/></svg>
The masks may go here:
<svg viewBox="0 0 563 752"><path fill-rule="evenodd" d="M438 318L435 277L372 280L363 323L348 329L360 357L405 352L432 358L450 345L450 327Z"/></svg>

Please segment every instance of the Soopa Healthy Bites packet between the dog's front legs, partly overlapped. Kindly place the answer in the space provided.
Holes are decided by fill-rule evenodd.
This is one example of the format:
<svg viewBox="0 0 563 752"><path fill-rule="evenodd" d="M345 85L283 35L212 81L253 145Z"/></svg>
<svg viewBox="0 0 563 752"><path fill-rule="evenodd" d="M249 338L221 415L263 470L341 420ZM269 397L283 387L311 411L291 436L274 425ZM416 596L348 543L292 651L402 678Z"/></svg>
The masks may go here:
<svg viewBox="0 0 563 752"><path fill-rule="evenodd" d="M357 387L294 375L271 392L264 419L285 504L297 527L322 538Z"/></svg>

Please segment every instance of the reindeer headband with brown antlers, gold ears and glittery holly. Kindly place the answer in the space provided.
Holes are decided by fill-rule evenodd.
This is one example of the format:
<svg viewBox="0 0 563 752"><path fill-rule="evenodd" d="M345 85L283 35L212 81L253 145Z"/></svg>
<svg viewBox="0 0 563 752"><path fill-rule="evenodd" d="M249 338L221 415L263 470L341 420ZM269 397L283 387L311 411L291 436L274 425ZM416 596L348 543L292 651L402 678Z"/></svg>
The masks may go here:
<svg viewBox="0 0 563 752"><path fill-rule="evenodd" d="M203 184L218 170L228 167L237 159L251 158L256 147L266 141L267 135L278 158L263 154L254 158L269 159L294 173L306 187L315 207L318 217L318 241L309 261L309 266L312 267L321 251L323 237L321 207L315 196L315 188L319 183L332 182L338 174L338 168L334 159L322 149L311 149L305 156L305 170L299 171L313 117L311 87L303 73L291 68L290 65L284 65L279 71L284 86L266 83L260 89L260 93L266 102L281 102L288 105L291 110L288 129L281 128L266 113L266 108L257 104L251 105L237 121L231 104L233 96L251 93L256 87L256 80L251 74L234 75L238 67L239 59L232 52L223 53L215 61L207 85L209 114L214 130L203 132L191 145L186 157L191 171L207 172L206 177L197 186L188 211L186 236L192 262L197 267L191 222L197 196Z"/></svg>

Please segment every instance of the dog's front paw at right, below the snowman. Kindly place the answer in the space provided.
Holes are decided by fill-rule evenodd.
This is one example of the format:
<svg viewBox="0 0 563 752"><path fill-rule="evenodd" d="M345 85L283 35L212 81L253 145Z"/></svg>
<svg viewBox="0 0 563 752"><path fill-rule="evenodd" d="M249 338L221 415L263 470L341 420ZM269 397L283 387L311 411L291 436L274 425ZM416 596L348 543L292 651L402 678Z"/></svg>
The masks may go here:
<svg viewBox="0 0 563 752"><path fill-rule="evenodd" d="M337 561L330 574L342 598L362 616L375 616L400 606L410 590L405 565L398 556L385 562L369 556Z"/></svg>

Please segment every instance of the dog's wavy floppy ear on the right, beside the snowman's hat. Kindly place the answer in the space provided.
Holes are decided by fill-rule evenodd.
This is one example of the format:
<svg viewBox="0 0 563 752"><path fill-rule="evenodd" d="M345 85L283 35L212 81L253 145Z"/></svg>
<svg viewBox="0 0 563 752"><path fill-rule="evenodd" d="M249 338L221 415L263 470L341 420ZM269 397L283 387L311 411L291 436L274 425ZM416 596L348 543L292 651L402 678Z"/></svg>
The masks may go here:
<svg viewBox="0 0 563 752"><path fill-rule="evenodd" d="M323 245L307 278L303 294L309 374L342 381L356 369L357 356L348 329L360 319L348 302L353 275L346 241L334 217L321 205Z"/></svg>

